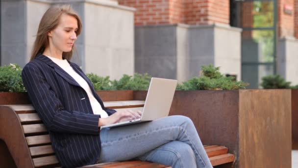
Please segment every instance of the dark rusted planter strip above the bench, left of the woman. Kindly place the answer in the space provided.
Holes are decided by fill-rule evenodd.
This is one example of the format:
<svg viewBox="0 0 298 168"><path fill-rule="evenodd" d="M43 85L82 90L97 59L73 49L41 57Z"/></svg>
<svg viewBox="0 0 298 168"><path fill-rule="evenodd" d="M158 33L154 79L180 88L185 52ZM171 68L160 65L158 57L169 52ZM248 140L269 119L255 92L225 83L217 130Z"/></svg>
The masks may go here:
<svg viewBox="0 0 298 168"><path fill-rule="evenodd" d="M31 104L26 92L0 92L0 105Z"/></svg>

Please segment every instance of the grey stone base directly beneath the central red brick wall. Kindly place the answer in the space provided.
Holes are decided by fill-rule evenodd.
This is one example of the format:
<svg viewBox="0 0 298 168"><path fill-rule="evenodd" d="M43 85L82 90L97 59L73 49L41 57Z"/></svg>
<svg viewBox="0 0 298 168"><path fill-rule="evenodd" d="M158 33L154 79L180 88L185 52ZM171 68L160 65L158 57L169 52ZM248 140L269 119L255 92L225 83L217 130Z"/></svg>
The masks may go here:
<svg viewBox="0 0 298 168"><path fill-rule="evenodd" d="M136 72L154 77L183 82L199 76L202 65L213 64L241 79L241 29L219 24L136 27L135 57Z"/></svg>

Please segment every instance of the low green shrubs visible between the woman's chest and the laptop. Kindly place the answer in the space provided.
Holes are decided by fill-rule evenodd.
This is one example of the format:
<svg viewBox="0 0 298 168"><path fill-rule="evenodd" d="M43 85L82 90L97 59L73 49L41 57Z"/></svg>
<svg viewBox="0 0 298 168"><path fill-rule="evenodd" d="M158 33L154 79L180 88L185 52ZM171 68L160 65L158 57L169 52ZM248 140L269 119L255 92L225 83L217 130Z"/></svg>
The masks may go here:
<svg viewBox="0 0 298 168"><path fill-rule="evenodd" d="M148 90L151 76L135 73L134 76L124 74L120 80L111 81L110 77L99 77L87 74L94 84L95 90Z"/></svg>

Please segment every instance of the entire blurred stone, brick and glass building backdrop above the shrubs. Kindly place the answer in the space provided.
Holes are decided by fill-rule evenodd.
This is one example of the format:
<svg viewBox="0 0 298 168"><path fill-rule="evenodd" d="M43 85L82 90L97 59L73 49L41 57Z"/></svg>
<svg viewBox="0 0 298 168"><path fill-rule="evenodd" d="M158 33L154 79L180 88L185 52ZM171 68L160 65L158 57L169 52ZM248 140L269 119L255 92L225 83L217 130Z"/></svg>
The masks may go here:
<svg viewBox="0 0 298 168"><path fill-rule="evenodd" d="M82 20L72 61L85 73L184 82L212 64L247 88L276 74L298 84L298 0L1 0L0 65L25 66L57 3Z"/></svg>

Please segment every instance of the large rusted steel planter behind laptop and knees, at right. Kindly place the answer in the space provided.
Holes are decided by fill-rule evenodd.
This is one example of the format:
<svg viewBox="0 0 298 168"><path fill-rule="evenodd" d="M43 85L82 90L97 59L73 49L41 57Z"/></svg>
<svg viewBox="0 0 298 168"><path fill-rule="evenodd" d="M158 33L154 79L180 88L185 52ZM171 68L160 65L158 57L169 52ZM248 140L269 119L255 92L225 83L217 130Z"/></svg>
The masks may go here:
<svg viewBox="0 0 298 168"><path fill-rule="evenodd" d="M134 99L145 98L146 91L134 92ZM291 168L289 89L176 91L175 114L193 120L203 144L228 147L233 168Z"/></svg>

